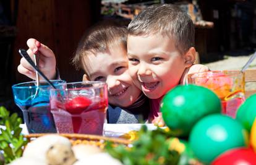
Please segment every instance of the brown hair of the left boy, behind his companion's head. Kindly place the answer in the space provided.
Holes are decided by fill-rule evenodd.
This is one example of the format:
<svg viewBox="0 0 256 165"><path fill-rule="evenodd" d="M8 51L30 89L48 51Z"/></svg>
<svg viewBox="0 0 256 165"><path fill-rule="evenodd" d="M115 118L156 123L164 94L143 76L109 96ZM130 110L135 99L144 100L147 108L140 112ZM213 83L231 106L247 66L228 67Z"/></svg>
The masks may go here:
<svg viewBox="0 0 256 165"><path fill-rule="evenodd" d="M90 65L89 54L96 56L98 53L106 53L111 46L122 46L127 49L127 28L114 24L100 23L82 36L79 41L72 63L77 69L83 69L88 77Z"/></svg>

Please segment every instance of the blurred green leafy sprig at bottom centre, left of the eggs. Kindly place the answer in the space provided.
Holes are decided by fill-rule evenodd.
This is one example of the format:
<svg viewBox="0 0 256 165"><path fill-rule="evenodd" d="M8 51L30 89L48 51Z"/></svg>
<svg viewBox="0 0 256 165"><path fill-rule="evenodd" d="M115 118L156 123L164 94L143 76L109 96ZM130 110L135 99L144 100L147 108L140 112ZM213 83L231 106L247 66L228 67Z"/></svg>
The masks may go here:
<svg viewBox="0 0 256 165"><path fill-rule="evenodd" d="M173 165L179 162L180 154L170 150L166 139L169 137L163 129L147 130L144 125L139 131L139 138L132 147L106 144L106 151L125 165Z"/></svg>

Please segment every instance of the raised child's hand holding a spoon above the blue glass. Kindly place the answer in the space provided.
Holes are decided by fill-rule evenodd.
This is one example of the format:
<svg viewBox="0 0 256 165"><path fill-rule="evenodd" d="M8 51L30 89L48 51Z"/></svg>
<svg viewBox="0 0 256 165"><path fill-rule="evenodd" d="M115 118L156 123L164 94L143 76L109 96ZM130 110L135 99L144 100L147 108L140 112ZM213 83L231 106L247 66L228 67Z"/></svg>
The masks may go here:
<svg viewBox="0 0 256 165"><path fill-rule="evenodd" d="M56 76L56 59L53 51L33 38L27 40L27 45L29 48L27 53L32 59L34 59L33 54L39 56L38 67L41 72L43 72L47 78L53 79ZM26 75L33 80L36 79L35 70L23 57L20 59L20 65L17 70L20 74Z"/></svg>

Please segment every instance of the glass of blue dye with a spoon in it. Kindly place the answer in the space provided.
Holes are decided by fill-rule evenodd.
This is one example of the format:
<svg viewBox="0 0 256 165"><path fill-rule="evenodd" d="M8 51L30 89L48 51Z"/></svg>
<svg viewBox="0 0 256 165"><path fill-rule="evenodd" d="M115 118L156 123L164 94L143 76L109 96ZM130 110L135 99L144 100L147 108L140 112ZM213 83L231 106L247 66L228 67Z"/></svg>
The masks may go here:
<svg viewBox="0 0 256 165"><path fill-rule="evenodd" d="M51 80L53 85L63 88L64 80ZM23 112L23 119L29 133L56 133L53 115L49 105L49 90L52 87L45 81L24 82L12 85L14 101Z"/></svg>

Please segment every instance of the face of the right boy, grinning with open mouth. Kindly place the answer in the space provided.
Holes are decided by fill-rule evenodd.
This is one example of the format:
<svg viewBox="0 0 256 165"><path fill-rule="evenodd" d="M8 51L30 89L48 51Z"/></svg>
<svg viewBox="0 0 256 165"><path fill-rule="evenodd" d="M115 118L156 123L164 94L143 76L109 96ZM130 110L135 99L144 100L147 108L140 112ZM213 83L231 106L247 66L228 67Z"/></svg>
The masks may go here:
<svg viewBox="0 0 256 165"><path fill-rule="evenodd" d="M161 98L179 84L188 67L174 40L160 34L128 36L129 74L148 98Z"/></svg>

